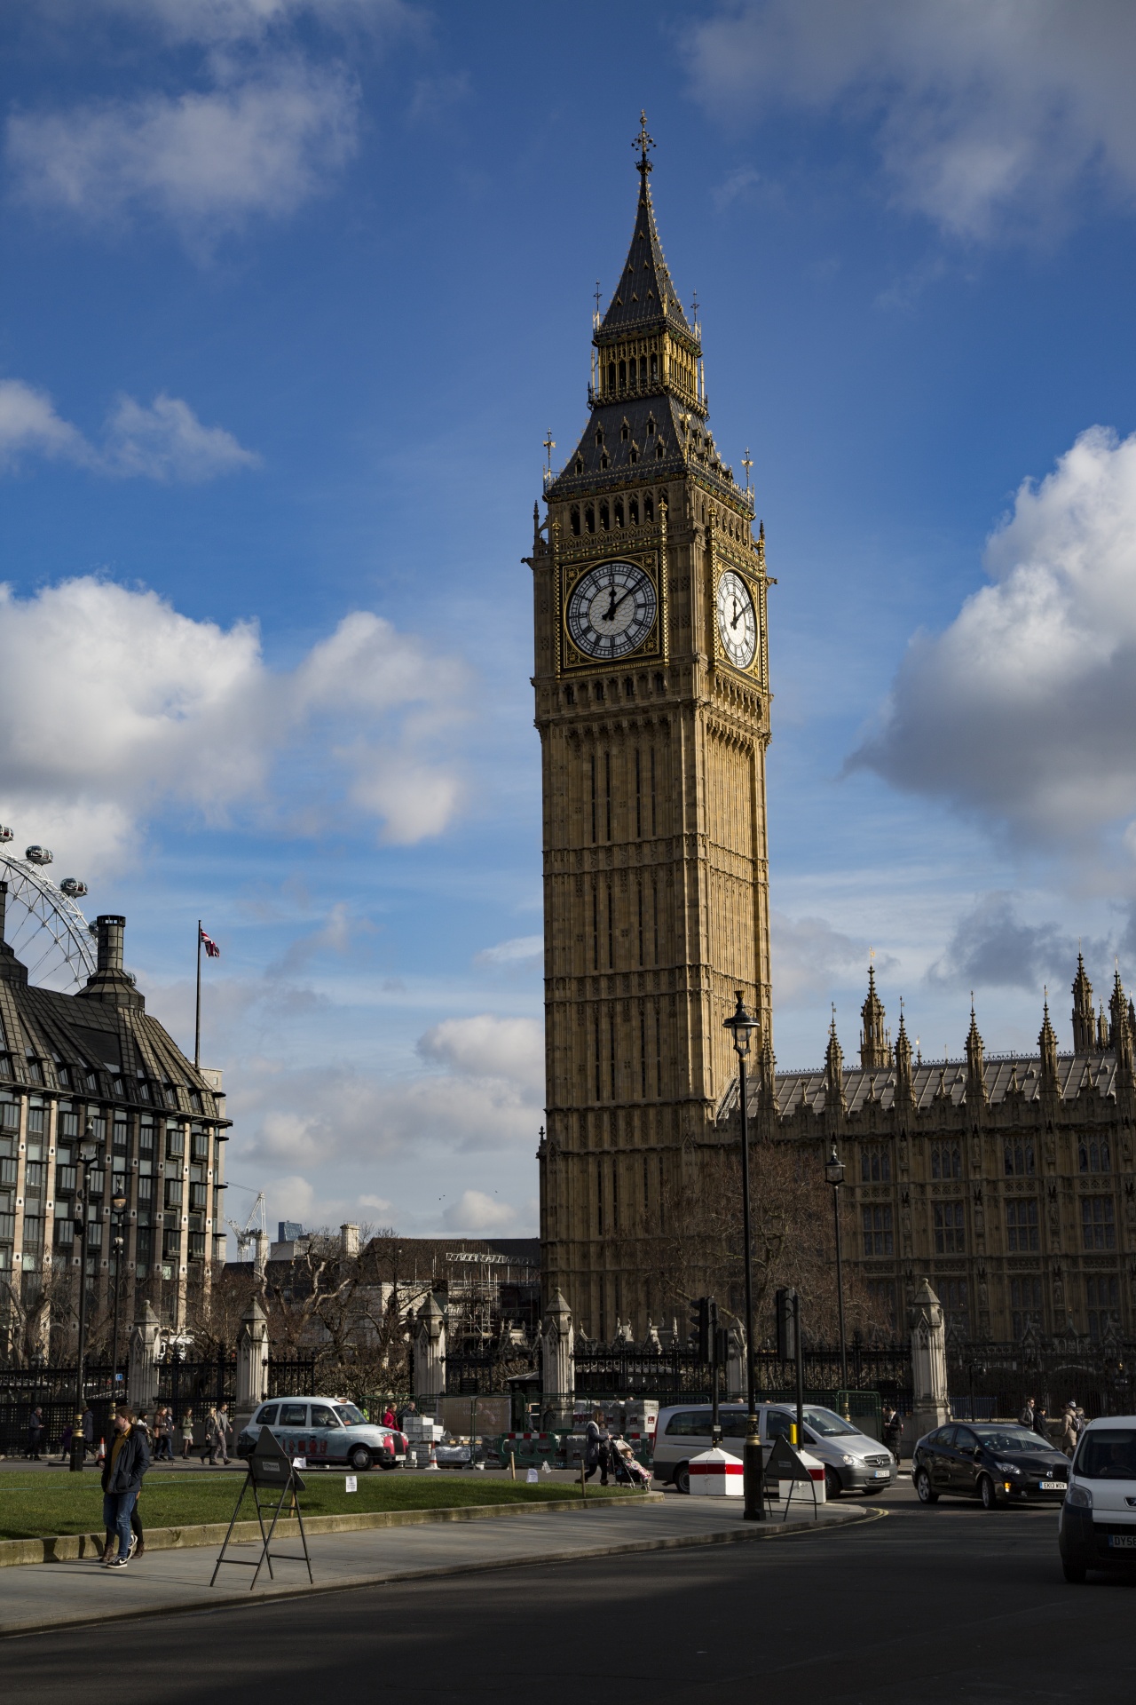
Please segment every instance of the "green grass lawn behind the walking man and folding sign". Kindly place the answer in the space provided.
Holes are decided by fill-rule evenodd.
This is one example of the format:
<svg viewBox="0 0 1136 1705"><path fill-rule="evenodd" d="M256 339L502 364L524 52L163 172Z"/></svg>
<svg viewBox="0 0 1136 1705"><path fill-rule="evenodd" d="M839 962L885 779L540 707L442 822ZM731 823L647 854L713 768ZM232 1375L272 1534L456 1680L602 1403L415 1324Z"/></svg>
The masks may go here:
<svg viewBox="0 0 1136 1705"><path fill-rule="evenodd" d="M358 1492L344 1492L344 1473L308 1471L300 1509L305 1516L337 1516L371 1509L455 1509L465 1504L555 1504L579 1499L579 1485L528 1485L523 1480L485 1480L482 1475L436 1480L404 1478L400 1473L358 1477ZM233 1473L152 1475L143 1482L138 1514L145 1528L186 1528L204 1521L228 1521L244 1480ZM610 1492L615 1488L610 1488ZM632 1494L628 1494L632 1495ZM252 1495L245 1497L242 1519L255 1519ZM53 1533L100 1533L102 1487L87 1470L83 1477L58 1473L0 1475L0 1540L32 1540Z"/></svg>

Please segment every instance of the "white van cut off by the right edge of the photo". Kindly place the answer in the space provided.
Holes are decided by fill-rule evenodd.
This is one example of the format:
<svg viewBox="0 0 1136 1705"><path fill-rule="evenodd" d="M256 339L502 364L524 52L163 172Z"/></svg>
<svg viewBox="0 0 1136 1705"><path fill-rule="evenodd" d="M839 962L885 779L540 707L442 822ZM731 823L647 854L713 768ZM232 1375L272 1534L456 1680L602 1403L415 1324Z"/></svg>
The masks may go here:
<svg viewBox="0 0 1136 1705"><path fill-rule="evenodd" d="M1058 1523L1066 1581L1136 1565L1136 1415L1104 1415L1081 1432Z"/></svg>

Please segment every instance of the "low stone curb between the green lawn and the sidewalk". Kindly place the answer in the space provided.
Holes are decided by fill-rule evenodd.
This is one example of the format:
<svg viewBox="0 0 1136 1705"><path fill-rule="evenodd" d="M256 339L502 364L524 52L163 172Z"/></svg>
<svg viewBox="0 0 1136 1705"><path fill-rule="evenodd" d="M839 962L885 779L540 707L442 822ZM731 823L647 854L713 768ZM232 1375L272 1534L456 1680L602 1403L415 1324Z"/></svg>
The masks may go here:
<svg viewBox="0 0 1136 1705"><path fill-rule="evenodd" d="M305 1533L361 1533L368 1528L416 1528L427 1521L487 1521L494 1516L528 1516L533 1511L547 1511L562 1516L565 1511L588 1509L591 1504L625 1507L635 1504L659 1504L663 1492L640 1492L630 1497L603 1497L601 1492L589 1494L586 1500L574 1497L562 1499L525 1499L514 1504L453 1504L445 1509L370 1509L341 1511L334 1516L307 1516ZM199 1545L221 1545L228 1533L227 1521L196 1523L186 1528L146 1528L148 1552L182 1552ZM283 1540L298 1540L300 1524L291 1517L276 1523L276 1533ZM261 1538L255 1521L238 1521L233 1528L233 1545L252 1545ZM100 1533L60 1533L44 1534L37 1540L0 1540L0 1569L15 1569L20 1563L73 1563L83 1557L102 1557Z"/></svg>

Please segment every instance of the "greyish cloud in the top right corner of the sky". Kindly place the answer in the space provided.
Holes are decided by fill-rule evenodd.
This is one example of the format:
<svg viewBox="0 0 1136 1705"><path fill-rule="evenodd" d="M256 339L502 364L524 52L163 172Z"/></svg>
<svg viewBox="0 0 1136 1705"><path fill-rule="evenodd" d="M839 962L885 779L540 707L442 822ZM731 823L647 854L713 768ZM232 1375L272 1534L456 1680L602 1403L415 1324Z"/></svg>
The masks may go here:
<svg viewBox="0 0 1136 1705"><path fill-rule="evenodd" d="M896 199L959 237L1046 225L1090 176L1124 203L1136 191L1124 0L746 0L688 46L715 116L872 123Z"/></svg>

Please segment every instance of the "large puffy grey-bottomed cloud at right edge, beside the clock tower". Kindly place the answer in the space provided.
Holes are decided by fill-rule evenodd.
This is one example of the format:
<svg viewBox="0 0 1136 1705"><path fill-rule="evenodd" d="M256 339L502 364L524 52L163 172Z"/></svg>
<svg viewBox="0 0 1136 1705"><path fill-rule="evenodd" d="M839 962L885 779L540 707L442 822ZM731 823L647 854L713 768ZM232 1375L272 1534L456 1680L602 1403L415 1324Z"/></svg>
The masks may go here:
<svg viewBox="0 0 1136 1705"><path fill-rule="evenodd" d="M1136 435L1093 426L1027 479L986 568L945 633L913 638L850 766L1087 846L1136 813Z"/></svg>

